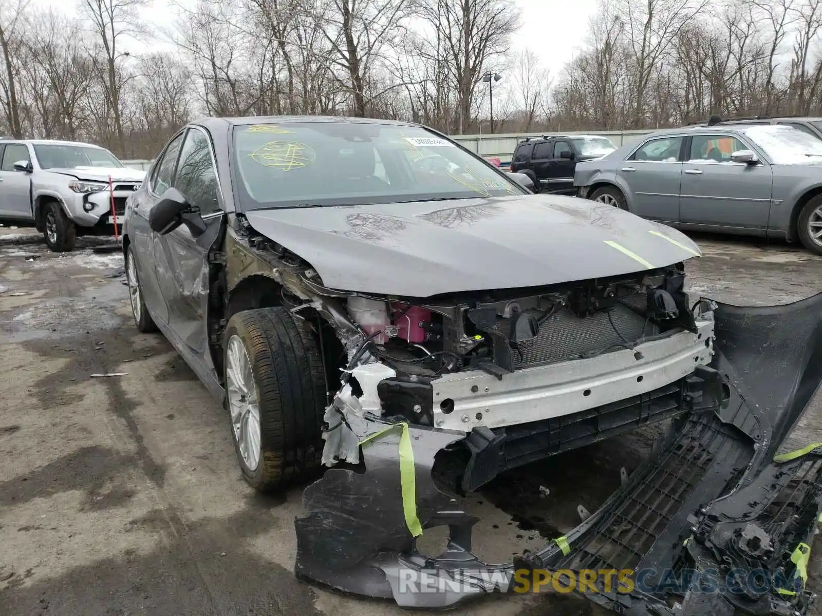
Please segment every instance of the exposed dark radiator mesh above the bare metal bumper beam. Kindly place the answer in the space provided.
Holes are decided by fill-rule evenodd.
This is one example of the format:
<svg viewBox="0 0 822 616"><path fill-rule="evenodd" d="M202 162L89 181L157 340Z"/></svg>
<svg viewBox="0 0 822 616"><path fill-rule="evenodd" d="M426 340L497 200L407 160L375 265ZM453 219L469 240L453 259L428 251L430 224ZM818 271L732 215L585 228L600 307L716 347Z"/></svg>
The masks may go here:
<svg viewBox="0 0 822 616"><path fill-rule="evenodd" d="M500 319L497 332L507 337L509 330L510 321ZM626 340L633 343L656 333L659 330L655 324L621 304L610 310L610 317L606 311L580 318L561 310L543 323L536 338L511 348L513 367L519 370L579 359L589 352L619 351L625 348Z"/></svg>

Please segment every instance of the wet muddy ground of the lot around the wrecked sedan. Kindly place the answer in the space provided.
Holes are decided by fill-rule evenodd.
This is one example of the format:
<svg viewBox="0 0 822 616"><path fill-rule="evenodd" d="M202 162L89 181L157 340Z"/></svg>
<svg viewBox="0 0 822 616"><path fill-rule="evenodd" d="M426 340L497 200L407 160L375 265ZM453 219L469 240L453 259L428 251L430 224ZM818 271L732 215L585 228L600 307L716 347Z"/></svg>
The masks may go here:
<svg viewBox="0 0 822 616"><path fill-rule="evenodd" d="M161 335L134 329L122 257L83 240L55 255L25 233L0 229L2 616L407 614L297 582L302 488L264 498L242 482L219 404ZM762 305L822 292L822 259L805 251L696 239L705 256L690 262L691 284L705 295ZM113 372L127 374L90 378ZM820 397L802 432L822 441ZM576 506L597 508L655 434L496 480L469 499L482 517L478 555L506 561L570 530ZM429 554L441 538L426 533ZM811 571L820 586L820 564ZM491 597L456 611L547 613L605 614L556 594Z"/></svg>

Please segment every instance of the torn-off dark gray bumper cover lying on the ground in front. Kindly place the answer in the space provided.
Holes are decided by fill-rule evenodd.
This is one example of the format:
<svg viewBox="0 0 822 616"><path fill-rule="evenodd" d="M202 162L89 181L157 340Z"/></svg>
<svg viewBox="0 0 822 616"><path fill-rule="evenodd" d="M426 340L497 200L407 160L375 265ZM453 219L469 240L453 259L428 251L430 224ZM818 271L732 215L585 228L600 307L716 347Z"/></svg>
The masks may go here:
<svg viewBox="0 0 822 616"><path fill-rule="evenodd" d="M513 563L480 562L476 518L432 478L436 453L464 435L411 427L416 515L423 528L449 526L446 552L432 559L414 549L399 434L386 434L363 446L364 471L330 469L307 488L295 572L414 608L547 580L636 616L806 614L822 448L783 449L822 383L822 294L720 305L714 316L712 367L729 384L727 402L678 418L651 459L566 536ZM365 418L356 431L383 427Z"/></svg>

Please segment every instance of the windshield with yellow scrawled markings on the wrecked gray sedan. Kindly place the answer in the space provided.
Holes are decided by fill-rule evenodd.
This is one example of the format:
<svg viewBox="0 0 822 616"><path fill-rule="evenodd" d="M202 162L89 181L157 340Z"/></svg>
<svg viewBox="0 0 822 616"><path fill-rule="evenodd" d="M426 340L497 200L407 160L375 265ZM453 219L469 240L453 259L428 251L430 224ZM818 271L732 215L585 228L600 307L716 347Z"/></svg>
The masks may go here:
<svg viewBox="0 0 822 616"><path fill-rule="evenodd" d="M234 129L242 209L519 195L453 142L415 126L288 123Z"/></svg>

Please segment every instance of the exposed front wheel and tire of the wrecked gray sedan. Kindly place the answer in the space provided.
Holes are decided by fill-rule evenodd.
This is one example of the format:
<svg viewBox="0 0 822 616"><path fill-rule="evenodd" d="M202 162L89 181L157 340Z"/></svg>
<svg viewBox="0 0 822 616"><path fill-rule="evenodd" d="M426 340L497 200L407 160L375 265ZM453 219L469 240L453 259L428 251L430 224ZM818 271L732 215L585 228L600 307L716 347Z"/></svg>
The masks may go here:
<svg viewBox="0 0 822 616"><path fill-rule="evenodd" d="M225 407L243 479L270 492L315 475L326 375L312 333L281 306L245 310L229 319L223 349Z"/></svg>

